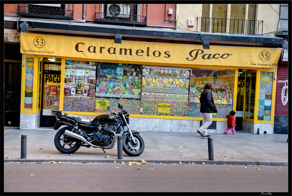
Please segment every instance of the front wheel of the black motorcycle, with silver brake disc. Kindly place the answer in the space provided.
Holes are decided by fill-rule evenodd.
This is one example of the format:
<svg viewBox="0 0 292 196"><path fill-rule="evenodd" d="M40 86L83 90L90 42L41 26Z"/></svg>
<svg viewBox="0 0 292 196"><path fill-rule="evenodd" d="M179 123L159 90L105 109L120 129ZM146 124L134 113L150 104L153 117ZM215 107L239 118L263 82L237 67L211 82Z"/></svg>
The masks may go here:
<svg viewBox="0 0 292 196"><path fill-rule="evenodd" d="M136 144L129 134L123 136L123 150L129 156L139 156L145 148L144 140L138 133L133 133Z"/></svg>

